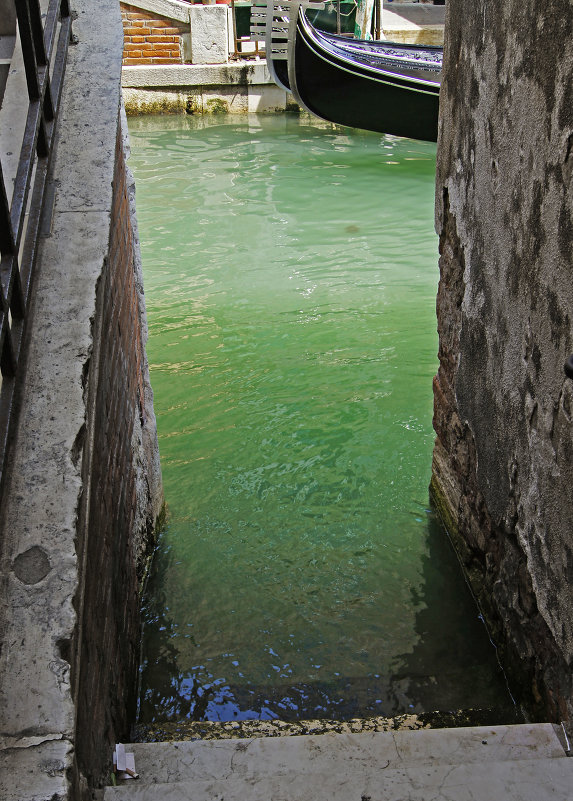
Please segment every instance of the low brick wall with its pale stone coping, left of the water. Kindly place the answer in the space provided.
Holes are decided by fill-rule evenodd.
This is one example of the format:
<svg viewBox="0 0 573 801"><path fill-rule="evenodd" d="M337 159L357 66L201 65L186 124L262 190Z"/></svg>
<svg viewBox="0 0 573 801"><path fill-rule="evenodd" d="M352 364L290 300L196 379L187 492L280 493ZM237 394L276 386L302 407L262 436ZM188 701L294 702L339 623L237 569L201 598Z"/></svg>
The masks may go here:
<svg viewBox="0 0 573 801"><path fill-rule="evenodd" d="M2 801L83 801L108 777L129 737L162 507L121 17L116 0L72 12L0 505Z"/></svg>

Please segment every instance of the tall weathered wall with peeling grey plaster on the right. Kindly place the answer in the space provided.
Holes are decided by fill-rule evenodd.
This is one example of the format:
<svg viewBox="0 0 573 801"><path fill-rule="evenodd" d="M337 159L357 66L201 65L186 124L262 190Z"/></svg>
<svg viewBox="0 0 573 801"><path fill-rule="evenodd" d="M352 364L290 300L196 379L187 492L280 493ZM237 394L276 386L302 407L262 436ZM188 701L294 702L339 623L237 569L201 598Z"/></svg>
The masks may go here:
<svg viewBox="0 0 573 801"><path fill-rule="evenodd" d="M573 10L448 0L432 490L514 681L573 713Z"/></svg>

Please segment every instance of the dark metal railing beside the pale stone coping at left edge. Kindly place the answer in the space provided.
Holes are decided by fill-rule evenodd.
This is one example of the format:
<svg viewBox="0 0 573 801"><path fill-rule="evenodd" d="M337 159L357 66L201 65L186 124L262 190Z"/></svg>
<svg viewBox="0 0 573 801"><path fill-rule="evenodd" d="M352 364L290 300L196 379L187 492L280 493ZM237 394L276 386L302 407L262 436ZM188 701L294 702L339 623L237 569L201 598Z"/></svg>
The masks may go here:
<svg viewBox="0 0 573 801"><path fill-rule="evenodd" d="M23 130L10 131L10 150L4 147L0 153L0 492L15 418L16 379L71 39L68 0L44 0L43 7L40 0L13 0L13 6L16 42L19 39L20 45L16 44L12 60L23 61L27 100L11 96L10 81L16 78L9 74L2 119L11 113L6 106L15 101L15 105L27 105L27 111ZM5 164L13 153L19 156L13 169L6 170Z"/></svg>

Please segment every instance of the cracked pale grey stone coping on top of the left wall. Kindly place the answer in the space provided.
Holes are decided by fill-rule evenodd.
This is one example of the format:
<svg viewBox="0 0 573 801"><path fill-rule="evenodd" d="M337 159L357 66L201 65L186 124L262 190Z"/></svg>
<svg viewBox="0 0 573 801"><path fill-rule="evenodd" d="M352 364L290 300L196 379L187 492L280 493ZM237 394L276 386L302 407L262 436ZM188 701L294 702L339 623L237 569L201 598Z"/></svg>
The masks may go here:
<svg viewBox="0 0 573 801"><path fill-rule="evenodd" d="M75 42L52 161L55 203L39 241L17 445L0 512L2 801L70 798L77 754L70 663L81 595L86 376L110 240L122 38L115 0L72 6ZM16 70L21 62L13 64ZM3 128L2 153L12 135L17 142L17 131Z"/></svg>

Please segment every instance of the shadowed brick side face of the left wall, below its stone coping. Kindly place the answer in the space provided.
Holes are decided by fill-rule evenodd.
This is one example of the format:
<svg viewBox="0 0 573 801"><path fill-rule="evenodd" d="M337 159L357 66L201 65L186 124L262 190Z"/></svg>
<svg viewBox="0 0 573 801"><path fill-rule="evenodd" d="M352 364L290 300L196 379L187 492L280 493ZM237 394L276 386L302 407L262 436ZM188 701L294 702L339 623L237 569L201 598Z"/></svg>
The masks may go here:
<svg viewBox="0 0 573 801"><path fill-rule="evenodd" d="M141 498L147 362L128 183L120 129L108 258L97 288L94 355L87 377L90 413L83 472L89 489L80 513L80 528L87 533L81 543L85 570L76 749L78 767L90 785L105 775L114 743L128 738L134 718L139 590L155 523L149 465L144 468L147 497ZM142 508L147 510L143 520Z"/></svg>

